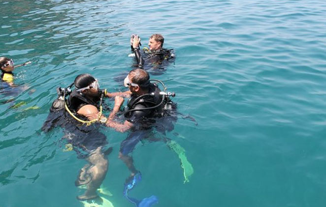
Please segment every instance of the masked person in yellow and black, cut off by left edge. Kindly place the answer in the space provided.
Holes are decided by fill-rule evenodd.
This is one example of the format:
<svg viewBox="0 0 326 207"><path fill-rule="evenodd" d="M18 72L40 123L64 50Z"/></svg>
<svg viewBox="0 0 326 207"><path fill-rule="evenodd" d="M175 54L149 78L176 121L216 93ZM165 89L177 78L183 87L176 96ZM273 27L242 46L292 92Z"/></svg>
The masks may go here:
<svg viewBox="0 0 326 207"><path fill-rule="evenodd" d="M26 66L27 64L30 64L31 62L26 62L24 64L20 64L15 66L14 60L9 59L7 57L0 57L0 70L1 70L1 87L0 87L0 93L6 94L6 95L13 95L17 96L20 92L27 90L29 87L27 85L18 87L14 84L14 74L13 70L21 67ZM32 90L30 93L33 93L35 90ZM8 100L2 103L7 103L12 100Z"/></svg>

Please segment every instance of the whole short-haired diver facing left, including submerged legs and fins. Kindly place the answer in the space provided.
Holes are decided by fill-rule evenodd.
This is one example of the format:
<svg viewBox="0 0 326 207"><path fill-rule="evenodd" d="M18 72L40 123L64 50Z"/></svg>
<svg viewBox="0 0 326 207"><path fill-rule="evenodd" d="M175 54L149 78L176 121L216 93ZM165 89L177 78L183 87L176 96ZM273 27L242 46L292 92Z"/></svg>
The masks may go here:
<svg viewBox="0 0 326 207"><path fill-rule="evenodd" d="M122 97L116 97L115 108L112 110L106 122L106 126L112 127L116 131L126 132L130 130L128 137L121 143L119 158L126 164L130 171L130 176L125 183L124 195L137 207L145 207L146 205L149 207L157 203L158 199L156 196L151 196L138 201L137 199L130 198L128 195L134 185L141 180L141 173L135 169L133 159L130 155L136 144L144 140L163 141L177 154L179 152L176 150L181 149L176 142L171 141L165 136L156 137L156 133L164 135L165 131L173 130L173 122L176 121L177 114L176 104L170 100L170 97L174 97L175 94L166 92L166 87L162 81L154 81L161 83L164 91L161 91L157 84L151 82L149 73L146 70L131 70L124 81L124 85L129 87L131 92L130 99L124 111L126 121L119 123L114 120L116 117L115 114L124 102ZM184 154L184 149L179 151ZM184 160L188 162L187 159ZM192 169L191 164L186 163L184 165L190 166Z"/></svg>

